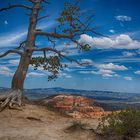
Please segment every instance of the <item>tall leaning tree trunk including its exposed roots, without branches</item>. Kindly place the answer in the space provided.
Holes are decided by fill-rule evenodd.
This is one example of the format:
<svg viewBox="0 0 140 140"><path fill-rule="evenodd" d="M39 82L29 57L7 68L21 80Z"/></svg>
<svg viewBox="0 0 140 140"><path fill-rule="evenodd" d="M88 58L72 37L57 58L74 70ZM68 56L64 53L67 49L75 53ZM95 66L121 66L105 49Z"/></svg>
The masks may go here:
<svg viewBox="0 0 140 140"><path fill-rule="evenodd" d="M32 57L32 49L35 46L35 31L41 2L42 0L39 0L38 2L34 3L34 6L32 7L27 40L24 46L24 52L21 55L19 66L13 76L11 91L9 91L7 95L0 97L0 111L2 111L7 106L9 106L10 108L13 108L15 106L21 106L24 80L26 78L30 60Z"/></svg>

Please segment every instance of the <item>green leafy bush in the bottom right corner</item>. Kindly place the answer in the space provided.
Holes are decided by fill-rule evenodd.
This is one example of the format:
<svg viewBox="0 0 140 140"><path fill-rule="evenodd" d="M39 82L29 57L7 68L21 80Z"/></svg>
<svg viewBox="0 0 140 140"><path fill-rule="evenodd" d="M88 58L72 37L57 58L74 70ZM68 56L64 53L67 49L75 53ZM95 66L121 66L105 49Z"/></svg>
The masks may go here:
<svg viewBox="0 0 140 140"><path fill-rule="evenodd" d="M125 110L103 117L98 131L104 136L121 136L124 140L135 138L140 132L140 110Z"/></svg>

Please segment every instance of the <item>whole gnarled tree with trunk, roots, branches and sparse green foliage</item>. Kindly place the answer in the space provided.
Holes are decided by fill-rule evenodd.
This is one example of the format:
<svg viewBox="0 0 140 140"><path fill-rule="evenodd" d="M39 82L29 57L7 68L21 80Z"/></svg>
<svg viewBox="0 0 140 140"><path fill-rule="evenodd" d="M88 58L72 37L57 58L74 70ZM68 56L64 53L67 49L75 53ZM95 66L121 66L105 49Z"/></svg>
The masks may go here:
<svg viewBox="0 0 140 140"><path fill-rule="evenodd" d="M48 79L57 78L59 70L61 70L65 65L62 65L61 60L63 58L71 62L76 62L81 65L77 60L71 59L64 55L61 51L54 47L54 39L63 39L65 41L71 41L76 44L77 49L81 51L88 51L90 46L88 44L80 44L78 38L81 34L87 32L96 33L94 28L90 28L90 22L93 16L86 16L84 19L82 13L80 12L80 7L78 6L78 1L75 4L66 2L65 7L60 13L60 16L56 19L59 23L58 26L54 28L52 32L42 31L37 29L36 25L38 21L47 17L39 17L39 13L44 10L44 7L49 4L46 0L28 0L32 3L32 6L27 6L23 4L9 5L7 8L0 9L0 12L13 9L13 8L23 8L30 11L29 14L29 27L28 34L25 41L23 41L19 47L10 49L3 54L0 54L0 58L5 57L11 53L20 56L20 62L18 68L13 76L11 91L8 94L0 97L0 110L5 107L15 107L21 106L22 93L24 87L24 80L27 75L29 65L33 65L34 69L42 66L44 70L51 73ZM84 21L84 22L83 22ZM37 36L45 36L48 42L51 42L53 47L45 46L39 48L36 46L35 41ZM33 52L43 52L40 57L33 57ZM53 52L53 55L47 57L46 53Z"/></svg>

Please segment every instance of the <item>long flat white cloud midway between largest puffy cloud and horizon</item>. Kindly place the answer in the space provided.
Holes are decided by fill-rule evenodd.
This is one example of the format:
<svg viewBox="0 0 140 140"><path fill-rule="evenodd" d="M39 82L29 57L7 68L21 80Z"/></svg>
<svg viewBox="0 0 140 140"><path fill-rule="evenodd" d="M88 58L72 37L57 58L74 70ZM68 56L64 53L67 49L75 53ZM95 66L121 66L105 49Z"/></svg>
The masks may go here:
<svg viewBox="0 0 140 140"><path fill-rule="evenodd" d="M97 64L96 67L100 69L106 69L106 70L127 70L128 68L123 66L123 65L116 65L113 63L108 63L108 64Z"/></svg>

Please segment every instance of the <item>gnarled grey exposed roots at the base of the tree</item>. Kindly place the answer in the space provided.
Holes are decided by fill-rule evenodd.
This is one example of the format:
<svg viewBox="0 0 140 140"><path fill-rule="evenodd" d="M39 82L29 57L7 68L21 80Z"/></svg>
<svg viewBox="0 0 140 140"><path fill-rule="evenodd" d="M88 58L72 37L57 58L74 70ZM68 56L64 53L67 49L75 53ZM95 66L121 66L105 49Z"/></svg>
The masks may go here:
<svg viewBox="0 0 140 140"><path fill-rule="evenodd" d="M20 109L22 99L21 90L11 90L6 95L0 96L0 112L6 107L11 109Z"/></svg>

